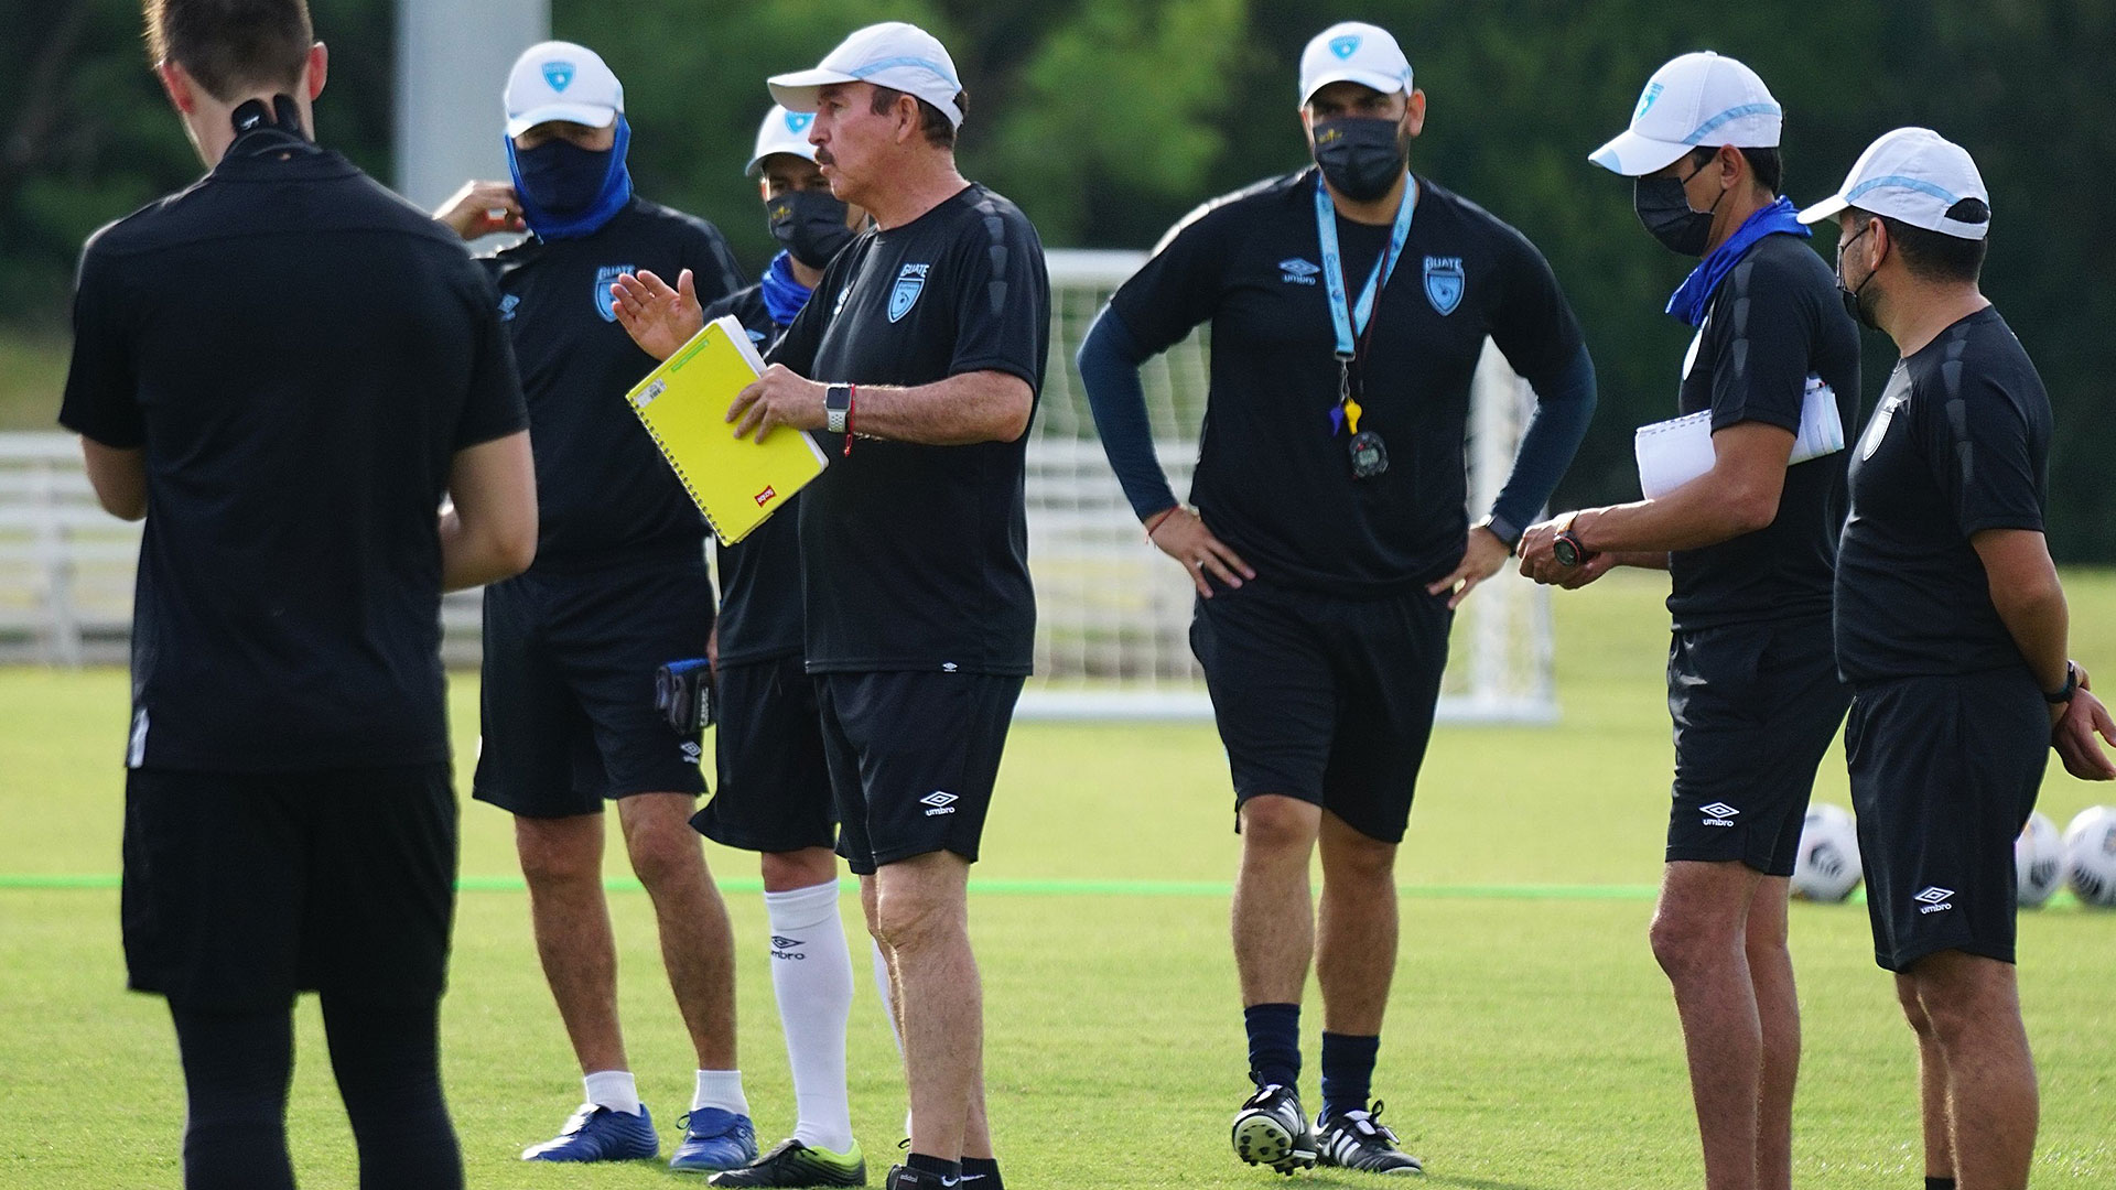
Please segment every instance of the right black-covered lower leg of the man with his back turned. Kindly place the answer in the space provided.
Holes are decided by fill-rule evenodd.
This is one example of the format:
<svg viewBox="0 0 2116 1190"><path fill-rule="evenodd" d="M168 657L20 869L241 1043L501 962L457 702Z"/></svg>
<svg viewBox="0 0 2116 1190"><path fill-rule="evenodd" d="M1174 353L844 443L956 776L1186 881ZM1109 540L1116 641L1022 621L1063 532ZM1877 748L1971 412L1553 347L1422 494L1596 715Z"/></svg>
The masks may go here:
<svg viewBox="0 0 2116 1190"><path fill-rule="evenodd" d="M440 1095L440 1004L326 995L324 1033L360 1148L360 1190L461 1190L463 1152Z"/></svg>

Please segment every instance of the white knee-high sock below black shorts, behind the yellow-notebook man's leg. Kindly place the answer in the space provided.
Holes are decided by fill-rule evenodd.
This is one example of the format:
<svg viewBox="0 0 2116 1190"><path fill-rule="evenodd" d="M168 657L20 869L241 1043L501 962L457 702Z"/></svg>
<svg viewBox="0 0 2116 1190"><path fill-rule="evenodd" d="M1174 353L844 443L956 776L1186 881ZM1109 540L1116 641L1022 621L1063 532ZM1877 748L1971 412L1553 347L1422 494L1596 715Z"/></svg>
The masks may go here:
<svg viewBox="0 0 2116 1190"><path fill-rule="evenodd" d="M838 917L838 881L764 894L772 923L772 993L794 1069L794 1139L849 1152L844 1025L853 1016L853 953Z"/></svg>

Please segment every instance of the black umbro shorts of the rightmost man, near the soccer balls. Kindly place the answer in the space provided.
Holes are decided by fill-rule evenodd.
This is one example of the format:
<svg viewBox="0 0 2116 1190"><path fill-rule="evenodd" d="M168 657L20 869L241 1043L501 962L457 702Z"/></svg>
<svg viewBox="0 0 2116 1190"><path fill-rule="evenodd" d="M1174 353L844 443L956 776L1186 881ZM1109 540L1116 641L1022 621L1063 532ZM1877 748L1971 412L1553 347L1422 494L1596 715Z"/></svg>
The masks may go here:
<svg viewBox="0 0 2116 1190"><path fill-rule="evenodd" d="M2036 811L2050 714L2027 669L1862 686L1845 731L1873 957L2012 961L2012 841Z"/></svg>

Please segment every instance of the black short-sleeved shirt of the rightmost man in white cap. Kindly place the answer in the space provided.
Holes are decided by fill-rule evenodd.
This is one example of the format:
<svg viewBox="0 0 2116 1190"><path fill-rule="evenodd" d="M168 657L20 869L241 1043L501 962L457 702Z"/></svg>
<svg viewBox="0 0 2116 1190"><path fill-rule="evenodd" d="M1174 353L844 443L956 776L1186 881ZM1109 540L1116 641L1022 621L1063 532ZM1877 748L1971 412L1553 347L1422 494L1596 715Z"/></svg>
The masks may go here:
<svg viewBox="0 0 2116 1190"><path fill-rule="evenodd" d="M2048 462L2050 396L1995 309L1896 364L1852 459L1837 557L1847 682L2027 665L1970 538L2042 531Z"/></svg>

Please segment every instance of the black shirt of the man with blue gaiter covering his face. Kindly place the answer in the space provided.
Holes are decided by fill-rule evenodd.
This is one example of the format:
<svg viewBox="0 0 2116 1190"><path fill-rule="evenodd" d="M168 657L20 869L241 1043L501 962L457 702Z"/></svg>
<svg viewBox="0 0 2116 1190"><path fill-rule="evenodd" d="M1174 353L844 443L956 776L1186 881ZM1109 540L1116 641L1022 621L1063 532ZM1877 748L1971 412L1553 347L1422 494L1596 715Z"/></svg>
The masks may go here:
<svg viewBox="0 0 2116 1190"><path fill-rule="evenodd" d="M690 269L698 301L717 301L736 286L726 239L700 218L633 199L592 235L531 237L485 265L529 398L535 570L703 557L705 517L624 404L654 358L618 324L609 284L641 269L675 284Z"/></svg>

